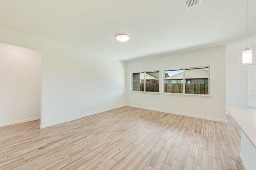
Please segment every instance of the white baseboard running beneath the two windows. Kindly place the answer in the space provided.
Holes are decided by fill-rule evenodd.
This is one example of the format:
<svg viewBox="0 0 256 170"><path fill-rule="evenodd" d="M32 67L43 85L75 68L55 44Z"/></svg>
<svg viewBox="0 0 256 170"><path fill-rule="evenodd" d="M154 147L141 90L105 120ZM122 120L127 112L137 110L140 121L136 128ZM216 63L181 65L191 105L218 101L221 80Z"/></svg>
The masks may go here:
<svg viewBox="0 0 256 170"><path fill-rule="evenodd" d="M141 106L134 106L134 105L126 105L126 106L137 107L137 108L141 108L141 109L154 110L154 111L161 111L161 112L164 112L164 113L172 113L172 114L176 114L176 115L195 117L195 118L199 118L199 119L206 119L206 120L220 121L220 122L227 123L227 120L225 120L225 119L215 119L215 118L210 118L210 117L204 117L204 116L198 116L198 115L190 115L190 114L186 114L186 113L178 113L178 112L175 112L175 111L166 111L166 110L153 109L153 108L149 108L149 107L141 107Z"/></svg>

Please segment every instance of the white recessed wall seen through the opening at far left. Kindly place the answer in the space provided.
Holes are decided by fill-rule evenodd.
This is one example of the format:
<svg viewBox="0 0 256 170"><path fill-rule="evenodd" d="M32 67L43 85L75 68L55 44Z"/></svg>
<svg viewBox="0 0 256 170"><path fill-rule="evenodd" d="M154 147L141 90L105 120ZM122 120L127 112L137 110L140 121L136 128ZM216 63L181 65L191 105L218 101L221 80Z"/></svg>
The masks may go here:
<svg viewBox="0 0 256 170"><path fill-rule="evenodd" d="M40 119L41 51L0 43L0 126Z"/></svg>

